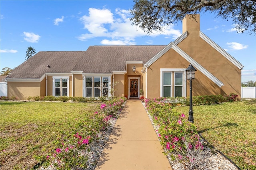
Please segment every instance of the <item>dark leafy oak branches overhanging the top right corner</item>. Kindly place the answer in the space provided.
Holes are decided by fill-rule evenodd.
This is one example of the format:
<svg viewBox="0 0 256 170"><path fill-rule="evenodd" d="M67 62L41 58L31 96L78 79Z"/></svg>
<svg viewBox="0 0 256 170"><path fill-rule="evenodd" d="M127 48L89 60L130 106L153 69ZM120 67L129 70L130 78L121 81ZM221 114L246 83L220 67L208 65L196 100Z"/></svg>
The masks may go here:
<svg viewBox="0 0 256 170"><path fill-rule="evenodd" d="M164 26L175 24L186 14L214 12L216 17L233 20L239 32L256 34L255 0L134 0L130 10L133 25L151 34L163 32ZM193 15L192 15L193 16ZM250 30L250 28L252 30Z"/></svg>

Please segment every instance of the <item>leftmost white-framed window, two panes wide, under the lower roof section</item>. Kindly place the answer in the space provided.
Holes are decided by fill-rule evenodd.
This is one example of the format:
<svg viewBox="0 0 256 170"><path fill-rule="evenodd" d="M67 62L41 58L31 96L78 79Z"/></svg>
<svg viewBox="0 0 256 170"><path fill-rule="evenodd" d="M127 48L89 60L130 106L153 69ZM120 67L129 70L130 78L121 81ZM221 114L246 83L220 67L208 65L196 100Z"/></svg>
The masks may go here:
<svg viewBox="0 0 256 170"><path fill-rule="evenodd" d="M69 77L52 77L54 96L68 96Z"/></svg>

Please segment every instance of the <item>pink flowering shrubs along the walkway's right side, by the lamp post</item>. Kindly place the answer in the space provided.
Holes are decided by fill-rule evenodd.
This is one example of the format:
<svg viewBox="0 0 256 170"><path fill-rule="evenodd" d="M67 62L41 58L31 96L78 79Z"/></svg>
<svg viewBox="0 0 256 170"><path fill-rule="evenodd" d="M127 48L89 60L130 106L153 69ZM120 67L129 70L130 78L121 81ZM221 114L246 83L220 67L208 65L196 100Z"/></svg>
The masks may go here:
<svg viewBox="0 0 256 170"><path fill-rule="evenodd" d="M174 111L174 106L166 103L163 98L147 99L145 102L146 109L151 117L154 117L154 123L159 125L158 137L162 147L174 157L189 162L187 152L191 150L200 152L202 149L196 126L188 122L184 114Z"/></svg>

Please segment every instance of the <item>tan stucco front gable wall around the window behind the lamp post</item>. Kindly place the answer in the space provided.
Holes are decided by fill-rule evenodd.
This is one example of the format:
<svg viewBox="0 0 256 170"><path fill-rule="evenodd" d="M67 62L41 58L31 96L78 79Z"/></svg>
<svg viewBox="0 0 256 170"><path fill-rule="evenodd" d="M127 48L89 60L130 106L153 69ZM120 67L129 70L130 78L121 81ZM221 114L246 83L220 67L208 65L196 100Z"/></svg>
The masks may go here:
<svg viewBox="0 0 256 170"><path fill-rule="evenodd" d="M160 68L186 69L190 63L181 57L174 49L167 51L162 57L148 67L148 98L160 96ZM186 94L189 96L190 82L186 81ZM172 86L174 91L174 86ZM196 79L192 81L192 95L218 95L220 87L200 71L196 71Z"/></svg>

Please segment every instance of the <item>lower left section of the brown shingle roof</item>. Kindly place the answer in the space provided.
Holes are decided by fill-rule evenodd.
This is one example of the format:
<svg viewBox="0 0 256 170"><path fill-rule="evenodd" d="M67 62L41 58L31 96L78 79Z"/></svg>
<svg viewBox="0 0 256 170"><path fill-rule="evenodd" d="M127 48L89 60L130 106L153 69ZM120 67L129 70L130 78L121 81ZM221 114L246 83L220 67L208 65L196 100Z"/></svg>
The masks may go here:
<svg viewBox="0 0 256 170"><path fill-rule="evenodd" d="M70 73L84 53L85 51L40 51L13 69L7 78L38 79L44 73Z"/></svg>

